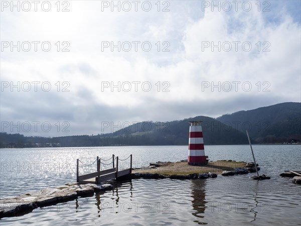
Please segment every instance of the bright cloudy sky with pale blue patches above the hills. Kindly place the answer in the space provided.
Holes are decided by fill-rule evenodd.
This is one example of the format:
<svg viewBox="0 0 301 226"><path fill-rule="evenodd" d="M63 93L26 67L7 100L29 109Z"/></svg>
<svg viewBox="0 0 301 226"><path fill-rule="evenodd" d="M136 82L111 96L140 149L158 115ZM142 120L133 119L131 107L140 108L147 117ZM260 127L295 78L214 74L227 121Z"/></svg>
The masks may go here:
<svg viewBox="0 0 301 226"><path fill-rule="evenodd" d="M301 101L300 1L1 1L0 13L1 132L101 134Z"/></svg>

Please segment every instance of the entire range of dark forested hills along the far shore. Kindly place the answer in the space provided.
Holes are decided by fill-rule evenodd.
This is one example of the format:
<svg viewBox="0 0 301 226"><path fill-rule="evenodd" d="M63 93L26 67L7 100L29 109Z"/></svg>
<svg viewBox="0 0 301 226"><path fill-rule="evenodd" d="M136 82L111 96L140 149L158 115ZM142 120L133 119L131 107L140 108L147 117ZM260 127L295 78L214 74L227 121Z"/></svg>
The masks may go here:
<svg viewBox="0 0 301 226"><path fill-rule="evenodd" d="M171 122L142 122L114 133L67 137L25 137L0 134L0 147L96 147L130 145L188 145L189 121L203 121L205 145L301 141L301 103L279 103L238 111L217 119L198 116Z"/></svg>

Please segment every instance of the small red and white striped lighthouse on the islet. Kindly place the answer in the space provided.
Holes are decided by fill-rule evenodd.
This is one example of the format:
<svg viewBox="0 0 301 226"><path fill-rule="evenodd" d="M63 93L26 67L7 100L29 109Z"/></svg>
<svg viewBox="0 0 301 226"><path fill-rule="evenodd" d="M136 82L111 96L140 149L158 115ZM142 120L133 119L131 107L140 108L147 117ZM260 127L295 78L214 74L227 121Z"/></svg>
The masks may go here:
<svg viewBox="0 0 301 226"><path fill-rule="evenodd" d="M188 164L189 165L204 165L207 164L203 132L202 121L192 121L189 128L189 145L188 145Z"/></svg>

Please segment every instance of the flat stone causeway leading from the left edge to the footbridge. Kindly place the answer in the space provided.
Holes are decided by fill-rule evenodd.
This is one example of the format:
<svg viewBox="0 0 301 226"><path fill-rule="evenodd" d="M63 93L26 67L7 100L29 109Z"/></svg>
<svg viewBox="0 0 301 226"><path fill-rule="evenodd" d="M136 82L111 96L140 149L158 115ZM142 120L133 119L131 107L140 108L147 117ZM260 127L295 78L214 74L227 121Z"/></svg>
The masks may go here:
<svg viewBox="0 0 301 226"><path fill-rule="evenodd" d="M111 184L65 184L56 188L31 191L15 197L0 199L0 218L18 216L31 212L37 207L55 205L77 197L90 196L94 192L113 189Z"/></svg>

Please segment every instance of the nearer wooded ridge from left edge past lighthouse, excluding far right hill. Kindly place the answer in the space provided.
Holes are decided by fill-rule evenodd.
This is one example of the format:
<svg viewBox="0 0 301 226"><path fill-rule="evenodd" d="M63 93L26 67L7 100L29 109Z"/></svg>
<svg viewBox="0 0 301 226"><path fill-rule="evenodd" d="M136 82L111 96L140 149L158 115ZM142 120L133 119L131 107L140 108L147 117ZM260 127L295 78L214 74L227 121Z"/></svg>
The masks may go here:
<svg viewBox="0 0 301 226"><path fill-rule="evenodd" d="M13 146L20 148L33 147L36 143L47 144L46 147L49 147L49 145L52 147L188 145L189 121L203 121L205 145L247 144L248 142L245 133L204 116L165 123L142 122L125 127L114 133L96 136L44 138L1 133L0 142L1 147Z"/></svg>

